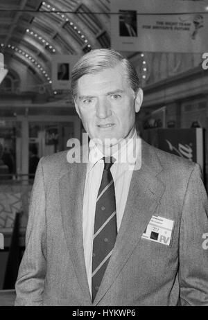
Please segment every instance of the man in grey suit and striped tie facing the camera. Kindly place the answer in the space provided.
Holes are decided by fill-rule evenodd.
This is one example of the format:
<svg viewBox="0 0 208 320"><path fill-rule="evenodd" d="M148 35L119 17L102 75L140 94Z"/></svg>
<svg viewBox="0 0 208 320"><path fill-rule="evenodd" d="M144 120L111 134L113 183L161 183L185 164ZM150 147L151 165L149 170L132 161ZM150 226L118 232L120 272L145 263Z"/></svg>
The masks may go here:
<svg viewBox="0 0 208 320"><path fill-rule="evenodd" d="M71 91L89 148L40 159L15 305L208 305L198 164L139 139L139 78L116 51L84 55Z"/></svg>

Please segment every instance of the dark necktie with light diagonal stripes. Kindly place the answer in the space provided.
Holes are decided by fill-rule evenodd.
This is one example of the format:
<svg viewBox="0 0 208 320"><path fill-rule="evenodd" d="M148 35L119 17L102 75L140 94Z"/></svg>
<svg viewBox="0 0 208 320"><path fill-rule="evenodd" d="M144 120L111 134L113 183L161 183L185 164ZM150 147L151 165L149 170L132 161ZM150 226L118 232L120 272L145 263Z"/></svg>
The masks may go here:
<svg viewBox="0 0 208 320"><path fill-rule="evenodd" d="M110 168L112 157L104 157L104 170L96 201L92 253L92 301L101 285L116 242L116 199Z"/></svg>

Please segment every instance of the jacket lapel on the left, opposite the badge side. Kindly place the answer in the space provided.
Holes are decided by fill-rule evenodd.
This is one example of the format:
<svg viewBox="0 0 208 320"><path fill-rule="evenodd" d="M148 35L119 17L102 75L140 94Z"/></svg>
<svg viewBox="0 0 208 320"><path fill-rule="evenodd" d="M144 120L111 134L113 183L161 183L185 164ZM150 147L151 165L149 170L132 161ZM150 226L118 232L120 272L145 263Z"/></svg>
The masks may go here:
<svg viewBox="0 0 208 320"><path fill-rule="evenodd" d="M83 249L83 195L87 163L66 163L66 166L68 170L60 178L62 226L78 282L91 304Z"/></svg>

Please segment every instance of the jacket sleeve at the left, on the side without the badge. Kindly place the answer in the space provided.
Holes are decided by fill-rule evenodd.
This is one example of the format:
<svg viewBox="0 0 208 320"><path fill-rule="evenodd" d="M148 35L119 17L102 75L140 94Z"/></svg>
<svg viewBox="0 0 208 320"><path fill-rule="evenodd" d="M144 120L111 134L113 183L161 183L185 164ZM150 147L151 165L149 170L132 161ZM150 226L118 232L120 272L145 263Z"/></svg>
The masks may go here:
<svg viewBox="0 0 208 320"><path fill-rule="evenodd" d="M42 305L46 275L45 190L42 160L37 166L29 206L26 250L15 285L15 305Z"/></svg>

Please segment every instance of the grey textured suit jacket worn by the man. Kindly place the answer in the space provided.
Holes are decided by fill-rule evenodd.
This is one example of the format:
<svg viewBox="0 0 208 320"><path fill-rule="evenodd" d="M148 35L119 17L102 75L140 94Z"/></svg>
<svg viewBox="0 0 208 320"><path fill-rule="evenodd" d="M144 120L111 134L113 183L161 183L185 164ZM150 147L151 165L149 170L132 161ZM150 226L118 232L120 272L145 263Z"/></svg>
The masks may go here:
<svg viewBox="0 0 208 320"><path fill-rule="evenodd" d="M92 303L83 250L86 163L42 158L31 197L15 305L208 305L207 194L196 163L142 142L110 263ZM141 235L174 220L171 245Z"/></svg>

